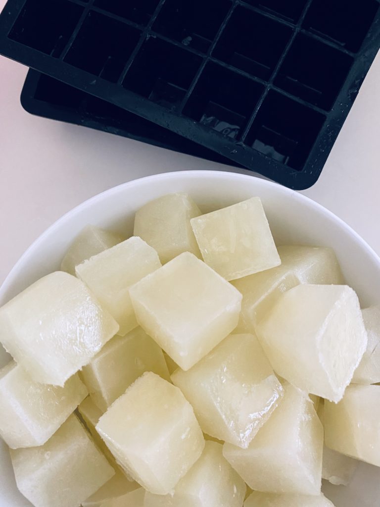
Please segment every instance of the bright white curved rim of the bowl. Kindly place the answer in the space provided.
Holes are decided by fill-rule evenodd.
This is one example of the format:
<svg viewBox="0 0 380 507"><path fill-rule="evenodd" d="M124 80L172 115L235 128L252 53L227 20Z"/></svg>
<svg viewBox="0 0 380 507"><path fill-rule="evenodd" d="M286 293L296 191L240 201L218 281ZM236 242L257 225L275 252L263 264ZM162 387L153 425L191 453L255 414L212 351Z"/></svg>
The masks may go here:
<svg viewBox="0 0 380 507"><path fill-rule="evenodd" d="M367 251L367 254L372 257L373 261L378 265L378 269L380 271L380 257L377 255L377 253L373 250L373 248L351 227L349 226L344 220L340 219L335 213L324 207L322 204L319 204L318 202L314 201L310 197L307 197L306 195L303 195L299 192L296 192L292 189L289 189L287 187L284 187L278 183L272 182L270 180L260 178L257 176L249 175L249 174L241 174L233 171L216 171L216 170L186 170L186 171L170 171L170 172L162 172L159 174L152 174L149 176L143 176L140 178L132 179L129 182L122 183L120 185L117 185L115 187L111 187L110 189L104 190L103 192L100 192L89 199L86 199L82 203L78 204L77 206L71 208L69 211L64 213L59 219L54 221L45 231L40 234L22 253L21 257L18 259L16 264L13 266L11 271L6 276L5 280L3 281L2 285L0 286L0 300L4 298L4 295L8 292L8 289L12 286L12 283L15 278L17 278L18 272L20 268L24 265L25 260L31 255L31 253L39 248L39 245L41 242L45 240L47 236L51 234L51 232L54 229L59 228L61 225L63 225L65 222L71 220L73 216L80 214L84 209L91 207L93 203L97 201L101 201L103 199L108 199L112 195L115 195L119 192L124 192L126 188L133 188L133 187L139 187L139 186L145 186L149 184L154 184L157 180L165 180L165 179L171 179L173 176L179 177L179 178L185 178L185 179L202 179L205 176L209 178L217 179L228 179L228 178L234 178L234 179L240 179L240 180L249 180L252 182L252 179L255 180L255 183L258 186L267 187L270 189L273 189L276 193L280 193L283 195L287 195L290 197L293 197L296 201L298 201L301 205L306 205L307 207L314 208L314 210L320 214L323 214L326 216L326 218L337 224L342 229L345 229L348 234L350 234L353 237L353 240L356 240L360 246Z"/></svg>

